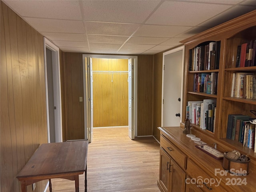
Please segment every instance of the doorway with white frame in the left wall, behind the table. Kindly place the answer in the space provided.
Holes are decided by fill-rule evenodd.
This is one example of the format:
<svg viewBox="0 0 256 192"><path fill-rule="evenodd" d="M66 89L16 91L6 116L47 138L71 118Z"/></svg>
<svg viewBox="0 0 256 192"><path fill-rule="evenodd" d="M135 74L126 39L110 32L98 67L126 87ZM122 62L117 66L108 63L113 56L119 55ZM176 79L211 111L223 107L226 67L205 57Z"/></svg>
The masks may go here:
<svg viewBox="0 0 256 192"><path fill-rule="evenodd" d="M62 142L59 48L44 38L44 71L48 143Z"/></svg>

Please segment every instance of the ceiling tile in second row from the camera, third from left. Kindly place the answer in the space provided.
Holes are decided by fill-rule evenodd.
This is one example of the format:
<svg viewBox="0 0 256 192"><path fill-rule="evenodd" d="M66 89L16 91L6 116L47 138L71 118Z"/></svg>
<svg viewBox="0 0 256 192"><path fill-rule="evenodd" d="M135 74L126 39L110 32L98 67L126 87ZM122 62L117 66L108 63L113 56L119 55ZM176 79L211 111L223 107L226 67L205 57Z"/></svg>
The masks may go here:
<svg viewBox="0 0 256 192"><path fill-rule="evenodd" d="M142 25L134 36L144 37L174 37L191 27L188 26L163 26L163 25Z"/></svg>

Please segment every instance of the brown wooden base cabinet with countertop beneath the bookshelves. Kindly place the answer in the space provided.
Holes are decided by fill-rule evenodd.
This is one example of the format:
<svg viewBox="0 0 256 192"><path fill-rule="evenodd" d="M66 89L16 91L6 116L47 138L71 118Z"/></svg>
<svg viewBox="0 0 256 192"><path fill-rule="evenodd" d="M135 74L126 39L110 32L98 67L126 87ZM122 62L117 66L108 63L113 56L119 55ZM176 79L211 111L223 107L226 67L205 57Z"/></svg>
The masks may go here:
<svg viewBox="0 0 256 192"><path fill-rule="evenodd" d="M161 127L159 129L158 187L161 192L251 192L255 190L256 172L253 168L247 176L230 174L222 168L222 160L216 160L196 148L194 141L182 133L183 128ZM169 148L174 149L175 155ZM184 156L185 168L182 161Z"/></svg>

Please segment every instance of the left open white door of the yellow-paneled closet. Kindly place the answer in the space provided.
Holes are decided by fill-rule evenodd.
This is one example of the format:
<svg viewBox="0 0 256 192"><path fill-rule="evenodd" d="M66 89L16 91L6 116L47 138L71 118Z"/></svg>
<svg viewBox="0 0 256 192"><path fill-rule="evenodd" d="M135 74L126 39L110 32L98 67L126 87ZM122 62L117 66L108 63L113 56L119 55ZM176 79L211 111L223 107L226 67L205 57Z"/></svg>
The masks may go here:
<svg viewBox="0 0 256 192"><path fill-rule="evenodd" d="M93 96L92 96L92 58L86 58L86 110L88 142L92 142L93 134Z"/></svg>

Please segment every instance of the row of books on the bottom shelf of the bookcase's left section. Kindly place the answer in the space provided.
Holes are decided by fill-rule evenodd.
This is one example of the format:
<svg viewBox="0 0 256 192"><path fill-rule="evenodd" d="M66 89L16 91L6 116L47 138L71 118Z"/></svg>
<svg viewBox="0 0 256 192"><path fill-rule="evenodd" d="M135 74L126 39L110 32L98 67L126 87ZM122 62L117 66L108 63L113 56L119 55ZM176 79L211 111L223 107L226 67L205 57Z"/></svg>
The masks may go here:
<svg viewBox="0 0 256 192"><path fill-rule="evenodd" d="M188 101L186 118L201 129L215 131L216 100Z"/></svg>

